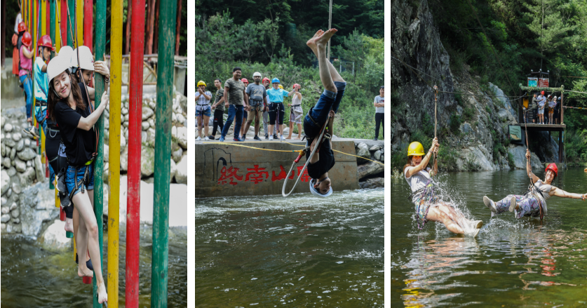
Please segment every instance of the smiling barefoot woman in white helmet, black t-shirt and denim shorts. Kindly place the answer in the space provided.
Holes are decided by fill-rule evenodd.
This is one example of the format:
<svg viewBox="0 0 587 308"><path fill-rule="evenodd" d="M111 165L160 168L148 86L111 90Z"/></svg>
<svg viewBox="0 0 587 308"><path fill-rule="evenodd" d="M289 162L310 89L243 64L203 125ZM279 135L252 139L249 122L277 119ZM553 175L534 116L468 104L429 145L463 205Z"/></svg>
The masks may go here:
<svg viewBox="0 0 587 308"><path fill-rule="evenodd" d="M72 83L69 72L71 59L57 56L47 67L49 79L49 99L47 112L57 123L69 166L65 173L67 191L79 211L78 251L90 252L94 260L101 260L98 243L98 222L93 211L93 160L96 156L96 134L93 128L109 103L104 91L100 106L92 112L90 100L95 99L93 88L81 83ZM83 91L80 88L86 88ZM87 91L87 95L86 95ZM102 222L100 222L102 223ZM79 262L78 276L96 276L98 302L107 302L108 295L102 276L102 262L95 262L93 272L86 262Z"/></svg>

